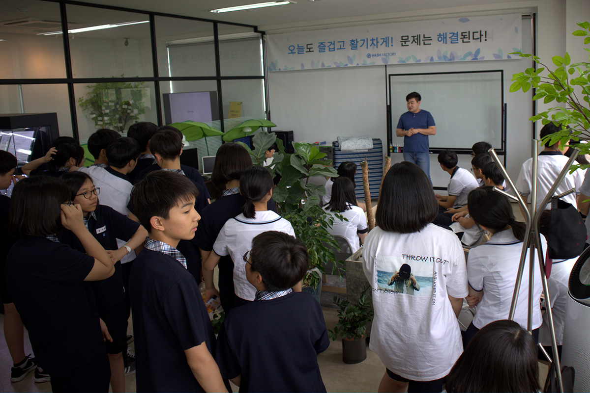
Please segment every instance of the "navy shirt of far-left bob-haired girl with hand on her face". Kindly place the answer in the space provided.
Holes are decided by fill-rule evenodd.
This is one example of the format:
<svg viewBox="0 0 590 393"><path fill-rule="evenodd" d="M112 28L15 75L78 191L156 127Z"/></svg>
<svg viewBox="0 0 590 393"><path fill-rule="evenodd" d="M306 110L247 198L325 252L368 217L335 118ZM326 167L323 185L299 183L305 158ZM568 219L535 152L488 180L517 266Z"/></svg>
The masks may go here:
<svg viewBox="0 0 590 393"><path fill-rule="evenodd" d="M84 278L94 258L45 237L18 239L6 282L35 357L52 377L106 356L99 313Z"/></svg>

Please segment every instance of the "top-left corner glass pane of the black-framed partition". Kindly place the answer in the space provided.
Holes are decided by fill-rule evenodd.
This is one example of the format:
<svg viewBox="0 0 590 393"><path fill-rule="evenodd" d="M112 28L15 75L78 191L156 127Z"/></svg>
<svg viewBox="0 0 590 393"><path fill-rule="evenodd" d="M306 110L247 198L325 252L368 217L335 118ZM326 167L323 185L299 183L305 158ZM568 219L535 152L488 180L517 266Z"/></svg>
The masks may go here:
<svg viewBox="0 0 590 393"><path fill-rule="evenodd" d="M0 78L65 78L60 5L47 1L0 2Z"/></svg>

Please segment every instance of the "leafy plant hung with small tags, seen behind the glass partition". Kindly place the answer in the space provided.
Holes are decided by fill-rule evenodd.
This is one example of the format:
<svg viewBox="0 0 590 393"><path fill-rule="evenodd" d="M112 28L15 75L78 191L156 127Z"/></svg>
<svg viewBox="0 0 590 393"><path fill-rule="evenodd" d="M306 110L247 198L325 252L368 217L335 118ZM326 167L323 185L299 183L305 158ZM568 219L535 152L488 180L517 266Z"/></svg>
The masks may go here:
<svg viewBox="0 0 590 393"><path fill-rule="evenodd" d="M121 75L123 76L123 75ZM83 111L89 111L96 128L111 128L123 132L129 122L145 114L143 82L100 82L86 86L86 98L78 98Z"/></svg>

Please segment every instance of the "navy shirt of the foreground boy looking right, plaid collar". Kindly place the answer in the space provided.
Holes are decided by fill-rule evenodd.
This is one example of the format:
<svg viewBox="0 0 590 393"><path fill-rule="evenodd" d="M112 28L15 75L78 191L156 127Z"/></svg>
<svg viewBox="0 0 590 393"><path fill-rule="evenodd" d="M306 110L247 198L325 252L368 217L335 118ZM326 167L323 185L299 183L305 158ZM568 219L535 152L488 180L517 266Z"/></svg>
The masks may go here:
<svg viewBox="0 0 590 393"><path fill-rule="evenodd" d="M143 249L129 278L137 392L202 392L184 351L215 335L195 278L170 255Z"/></svg>

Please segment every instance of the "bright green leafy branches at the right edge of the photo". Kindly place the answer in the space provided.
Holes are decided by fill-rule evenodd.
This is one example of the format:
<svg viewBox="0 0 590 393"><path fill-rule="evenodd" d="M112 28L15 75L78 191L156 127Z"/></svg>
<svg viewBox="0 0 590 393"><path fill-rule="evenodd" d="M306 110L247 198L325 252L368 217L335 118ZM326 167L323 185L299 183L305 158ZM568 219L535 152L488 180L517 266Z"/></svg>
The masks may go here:
<svg viewBox="0 0 590 393"><path fill-rule="evenodd" d="M584 45L590 44L590 23L578 23L582 29L576 30L572 35L585 37ZM589 48L584 48L590 52ZM559 106L552 106L546 111L532 116L530 121L540 120L543 125L550 121L562 126L555 134L548 136L550 142L555 144L560 141L562 145L570 139L575 142L590 140L590 62L572 63L570 55L566 52L563 56L553 56L551 61L555 69L550 69L538 56L531 54L514 53L520 57L530 58L540 65L538 69L527 68L525 72L514 74L510 92L522 90L529 91L535 88L533 101L543 99L545 104L556 102ZM590 56L589 56L590 61ZM576 88L576 86L579 86ZM576 93L578 91L578 93ZM581 96L578 96L578 94ZM590 144L575 144L581 150L580 154L590 152Z"/></svg>

